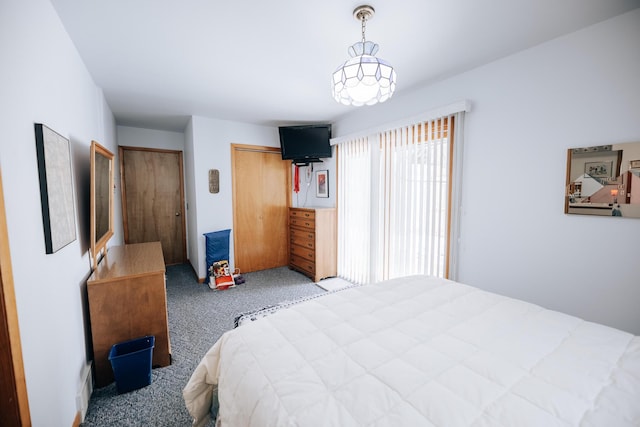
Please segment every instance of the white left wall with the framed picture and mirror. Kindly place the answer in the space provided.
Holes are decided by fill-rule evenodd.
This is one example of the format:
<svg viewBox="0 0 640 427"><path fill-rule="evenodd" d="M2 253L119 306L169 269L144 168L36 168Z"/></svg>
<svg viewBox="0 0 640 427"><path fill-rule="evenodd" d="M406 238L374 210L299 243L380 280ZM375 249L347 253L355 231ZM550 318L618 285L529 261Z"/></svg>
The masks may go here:
<svg viewBox="0 0 640 427"><path fill-rule="evenodd" d="M113 151L115 124L49 1L0 3L0 57L0 166L31 421L71 426L90 357L90 143ZM34 123L70 140L78 238L49 255Z"/></svg>

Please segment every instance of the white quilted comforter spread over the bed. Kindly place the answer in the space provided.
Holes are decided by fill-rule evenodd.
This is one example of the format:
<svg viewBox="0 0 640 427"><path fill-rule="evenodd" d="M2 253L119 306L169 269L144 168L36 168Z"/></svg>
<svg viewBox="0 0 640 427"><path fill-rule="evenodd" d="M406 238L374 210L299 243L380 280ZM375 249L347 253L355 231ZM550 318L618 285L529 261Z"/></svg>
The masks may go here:
<svg viewBox="0 0 640 427"><path fill-rule="evenodd" d="M195 425L640 425L640 337L441 279L316 298L225 333Z"/></svg>

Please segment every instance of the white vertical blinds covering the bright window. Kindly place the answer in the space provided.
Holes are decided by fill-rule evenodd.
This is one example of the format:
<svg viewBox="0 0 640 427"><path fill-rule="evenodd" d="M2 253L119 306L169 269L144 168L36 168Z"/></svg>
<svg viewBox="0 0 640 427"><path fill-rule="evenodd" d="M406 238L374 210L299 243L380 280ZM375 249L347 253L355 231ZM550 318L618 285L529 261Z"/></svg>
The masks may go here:
<svg viewBox="0 0 640 427"><path fill-rule="evenodd" d="M453 137L462 114L338 146L338 275L355 283L448 277Z"/></svg>

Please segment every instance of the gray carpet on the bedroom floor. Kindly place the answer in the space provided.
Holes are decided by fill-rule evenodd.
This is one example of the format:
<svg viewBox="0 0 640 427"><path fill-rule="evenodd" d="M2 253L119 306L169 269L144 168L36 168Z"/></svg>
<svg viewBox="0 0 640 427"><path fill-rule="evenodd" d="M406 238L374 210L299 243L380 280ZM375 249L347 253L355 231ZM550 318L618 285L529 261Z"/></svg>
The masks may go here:
<svg viewBox="0 0 640 427"><path fill-rule="evenodd" d="M115 384L95 389L83 426L190 426L182 389L196 365L243 312L324 292L286 267L244 274L225 291L199 284L190 265L167 267L172 364L152 371L151 385L117 394ZM213 422L211 423L213 426Z"/></svg>

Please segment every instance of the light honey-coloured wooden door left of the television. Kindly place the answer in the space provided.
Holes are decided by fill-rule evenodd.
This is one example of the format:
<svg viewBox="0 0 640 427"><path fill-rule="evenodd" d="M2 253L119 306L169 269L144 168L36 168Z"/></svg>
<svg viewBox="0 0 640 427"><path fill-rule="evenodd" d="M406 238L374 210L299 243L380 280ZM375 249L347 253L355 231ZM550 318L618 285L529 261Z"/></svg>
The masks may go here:
<svg viewBox="0 0 640 427"><path fill-rule="evenodd" d="M291 162L280 149L232 144L233 246L242 272L288 265Z"/></svg>

